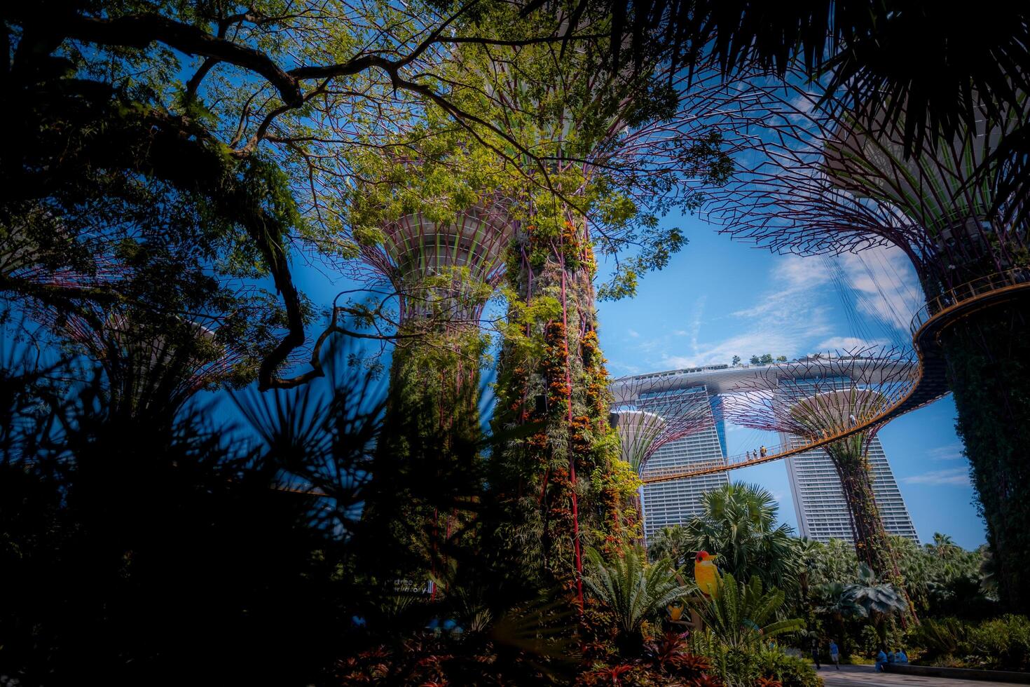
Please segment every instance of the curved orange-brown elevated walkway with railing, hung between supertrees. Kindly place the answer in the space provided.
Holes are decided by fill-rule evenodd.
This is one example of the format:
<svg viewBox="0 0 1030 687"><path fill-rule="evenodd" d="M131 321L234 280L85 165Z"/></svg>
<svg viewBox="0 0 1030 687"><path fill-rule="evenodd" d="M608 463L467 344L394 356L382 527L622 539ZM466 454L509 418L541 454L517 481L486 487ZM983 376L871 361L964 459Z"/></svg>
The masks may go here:
<svg viewBox="0 0 1030 687"><path fill-rule="evenodd" d="M765 454L758 457L753 457L753 453L743 453L693 463L689 469L671 467L648 470L645 466L641 479L645 484L655 484L780 460L832 444L936 401L949 392L945 378L946 363L937 342L940 331L970 312L1026 291L1030 291L1030 268L1016 268L974 279L930 299L912 320L912 342L919 357L914 383L896 398L889 399L884 410L876 415L858 417L854 425L817 441L766 447Z"/></svg>

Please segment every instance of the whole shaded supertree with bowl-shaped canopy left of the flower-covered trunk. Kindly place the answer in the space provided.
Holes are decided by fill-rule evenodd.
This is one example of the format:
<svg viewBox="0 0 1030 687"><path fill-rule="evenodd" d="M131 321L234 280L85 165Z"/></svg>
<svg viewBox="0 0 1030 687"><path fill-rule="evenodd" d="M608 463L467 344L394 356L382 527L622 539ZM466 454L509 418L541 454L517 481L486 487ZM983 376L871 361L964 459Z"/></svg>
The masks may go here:
<svg viewBox="0 0 1030 687"><path fill-rule="evenodd" d="M403 164L431 174L431 165ZM436 200L424 211L390 217L388 208L365 207L376 203L374 195L353 199L355 220L374 216L378 226L355 232L359 253L350 270L373 288L386 285L398 312L386 428L365 511L384 537L397 541L392 548L406 553L414 548L415 559L398 563L406 574L424 565L435 575L447 562L438 560L439 552L468 525L460 522L469 519L460 509L447 503L446 489L421 494L415 489L402 504L388 485L410 482L405 476L411 474L424 475L424 486L453 482L446 477L451 471L473 468L451 463L454 456L476 456L455 444L471 444L479 436L479 374L486 348L481 318L504 276L512 234L507 203L496 195L456 210L442 210ZM443 451L422 454L427 438L444 441ZM417 461L432 465L412 465ZM412 541L423 545L411 547Z"/></svg>

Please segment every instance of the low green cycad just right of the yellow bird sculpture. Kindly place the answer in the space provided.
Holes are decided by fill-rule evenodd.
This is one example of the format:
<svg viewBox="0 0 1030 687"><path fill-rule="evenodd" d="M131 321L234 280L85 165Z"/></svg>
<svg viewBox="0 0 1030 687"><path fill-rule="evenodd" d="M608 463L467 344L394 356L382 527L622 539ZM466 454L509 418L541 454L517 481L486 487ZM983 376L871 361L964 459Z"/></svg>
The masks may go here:
<svg viewBox="0 0 1030 687"><path fill-rule="evenodd" d="M799 618L776 620L783 606L783 590L765 591L757 576L750 583L737 582L731 573L722 577L719 596L695 604L706 627L726 647L747 649L784 632L801 629Z"/></svg>

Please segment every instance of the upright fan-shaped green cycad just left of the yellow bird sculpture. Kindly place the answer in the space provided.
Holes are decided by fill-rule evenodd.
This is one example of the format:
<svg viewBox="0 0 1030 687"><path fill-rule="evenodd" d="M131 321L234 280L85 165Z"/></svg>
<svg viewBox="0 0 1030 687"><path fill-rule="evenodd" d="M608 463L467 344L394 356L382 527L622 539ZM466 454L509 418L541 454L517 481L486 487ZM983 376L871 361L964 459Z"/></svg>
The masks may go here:
<svg viewBox="0 0 1030 687"><path fill-rule="evenodd" d="M617 643L624 654L639 651L644 621L671 602L686 595L690 587L677 581L678 571L667 558L648 564L636 547L606 560L596 549L587 549L587 589L614 617Z"/></svg>

